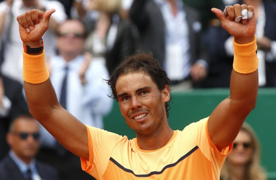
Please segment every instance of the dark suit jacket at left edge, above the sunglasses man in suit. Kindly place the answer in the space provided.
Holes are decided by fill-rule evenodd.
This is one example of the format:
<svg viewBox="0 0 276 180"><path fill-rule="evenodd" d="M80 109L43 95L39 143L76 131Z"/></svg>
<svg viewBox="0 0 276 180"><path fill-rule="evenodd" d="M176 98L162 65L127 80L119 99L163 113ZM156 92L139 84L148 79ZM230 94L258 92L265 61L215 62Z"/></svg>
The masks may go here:
<svg viewBox="0 0 276 180"><path fill-rule="evenodd" d="M28 106L22 94L22 85L6 76L0 75L3 80L5 95L10 99L12 106L6 117L0 117L0 160L8 153L9 147L6 143L6 133L12 119L19 114L28 114Z"/></svg>

